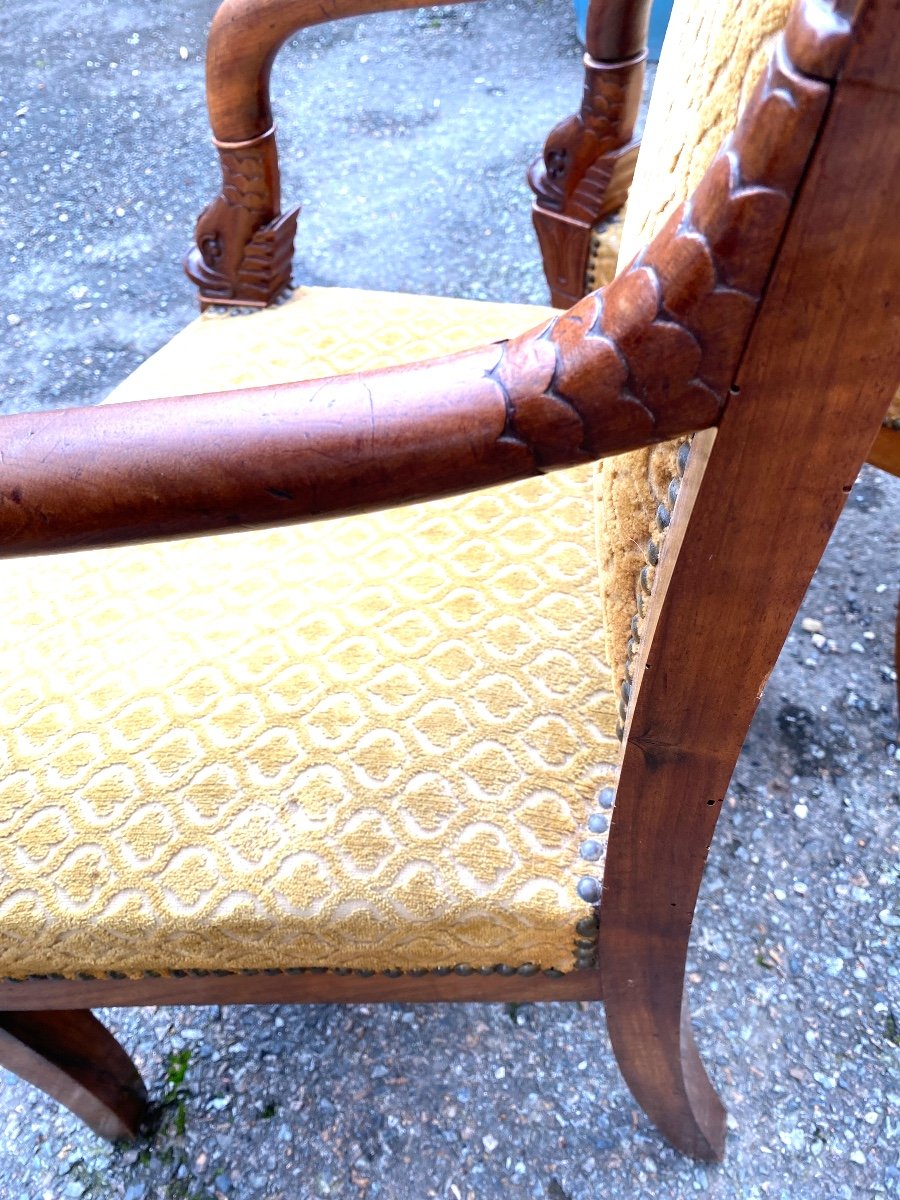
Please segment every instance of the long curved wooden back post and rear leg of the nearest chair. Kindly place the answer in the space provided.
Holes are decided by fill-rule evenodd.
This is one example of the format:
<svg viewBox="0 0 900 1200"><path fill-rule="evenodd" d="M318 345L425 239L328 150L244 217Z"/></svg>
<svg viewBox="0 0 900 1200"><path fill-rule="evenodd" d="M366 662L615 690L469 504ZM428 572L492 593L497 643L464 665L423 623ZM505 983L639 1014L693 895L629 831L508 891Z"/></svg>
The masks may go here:
<svg viewBox="0 0 900 1200"><path fill-rule="evenodd" d="M604 880L613 1046L662 1133L722 1152L684 964L707 847L750 719L896 388L898 0L859 23L716 431L698 434L635 672ZM892 54L894 55L892 61ZM865 82L863 83L863 79Z"/></svg>

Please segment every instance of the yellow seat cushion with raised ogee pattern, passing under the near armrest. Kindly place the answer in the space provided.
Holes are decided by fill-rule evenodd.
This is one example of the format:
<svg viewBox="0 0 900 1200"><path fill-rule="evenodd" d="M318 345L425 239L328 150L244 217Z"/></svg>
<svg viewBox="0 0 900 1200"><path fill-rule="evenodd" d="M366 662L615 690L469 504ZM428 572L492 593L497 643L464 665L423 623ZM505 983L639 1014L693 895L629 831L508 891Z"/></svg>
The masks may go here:
<svg viewBox="0 0 900 1200"><path fill-rule="evenodd" d="M113 398L545 317L301 292L200 318ZM6 563L0 973L571 970L617 750L593 486Z"/></svg>

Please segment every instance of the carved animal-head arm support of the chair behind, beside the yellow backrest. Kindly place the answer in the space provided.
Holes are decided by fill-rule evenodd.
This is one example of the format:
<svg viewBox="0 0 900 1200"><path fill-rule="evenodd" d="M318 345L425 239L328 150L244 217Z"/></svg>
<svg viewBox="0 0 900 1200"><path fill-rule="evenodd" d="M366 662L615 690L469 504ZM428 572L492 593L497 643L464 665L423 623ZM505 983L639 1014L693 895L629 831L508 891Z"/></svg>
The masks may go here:
<svg viewBox="0 0 900 1200"><path fill-rule="evenodd" d="M594 0L581 108L550 133L528 172L535 233L558 308L586 292L593 227L625 203L640 143L649 0Z"/></svg>

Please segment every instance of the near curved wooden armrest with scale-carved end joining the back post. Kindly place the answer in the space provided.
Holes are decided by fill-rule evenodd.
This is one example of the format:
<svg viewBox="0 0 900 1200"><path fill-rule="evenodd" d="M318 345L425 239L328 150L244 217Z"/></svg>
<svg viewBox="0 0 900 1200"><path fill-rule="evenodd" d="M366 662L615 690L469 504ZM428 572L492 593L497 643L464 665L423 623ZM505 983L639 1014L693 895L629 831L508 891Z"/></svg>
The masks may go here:
<svg viewBox="0 0 900 1200"><path fill-rule="evenodd" d="M359 511L715 425L830 96L791 61L821 66L798 29L691 199L607 288L412 367L5 418L0 552Z"/></svg>

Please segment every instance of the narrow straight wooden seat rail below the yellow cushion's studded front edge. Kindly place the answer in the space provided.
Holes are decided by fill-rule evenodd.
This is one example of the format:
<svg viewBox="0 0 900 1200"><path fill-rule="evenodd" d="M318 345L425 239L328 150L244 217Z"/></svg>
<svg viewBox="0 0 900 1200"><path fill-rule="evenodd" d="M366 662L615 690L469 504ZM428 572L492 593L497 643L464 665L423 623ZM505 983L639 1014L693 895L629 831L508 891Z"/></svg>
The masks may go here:
<svg viewBox="0 0 900 1200"><path fill-rule="evenodd" d="M511 1002L601 1000L600 971L586 968L551 977L522 974L422 976L340 974L335 971L259 971L241 974L184 973L144 979L0 980L0 1007L55 1009L137 1004L424 1004L431 1002Z"/></svg>

